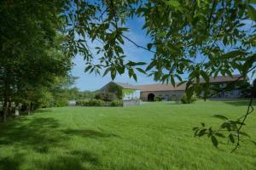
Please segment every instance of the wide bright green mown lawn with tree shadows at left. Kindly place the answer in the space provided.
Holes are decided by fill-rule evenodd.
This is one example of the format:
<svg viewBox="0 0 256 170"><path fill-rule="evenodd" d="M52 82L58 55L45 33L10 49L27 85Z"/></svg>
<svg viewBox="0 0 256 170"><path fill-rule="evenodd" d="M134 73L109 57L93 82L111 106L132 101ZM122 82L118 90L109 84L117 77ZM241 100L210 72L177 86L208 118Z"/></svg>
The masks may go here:
<svg viewBox="0 0 256 170"><path fill-rule="evenodd" d="M0 123L0 169L256 169L255 145L230 153L226 140L215 149L192 131L246 108L239 100L44 109ZM245 127L254 140L255 122L253 114Z"/></svg>

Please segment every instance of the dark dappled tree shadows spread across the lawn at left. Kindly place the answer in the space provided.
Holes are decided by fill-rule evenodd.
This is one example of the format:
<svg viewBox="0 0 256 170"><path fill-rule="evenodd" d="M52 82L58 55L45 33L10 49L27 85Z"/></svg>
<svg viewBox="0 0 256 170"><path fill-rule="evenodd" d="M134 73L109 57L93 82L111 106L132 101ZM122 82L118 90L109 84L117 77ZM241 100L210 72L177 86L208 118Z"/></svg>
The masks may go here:
<svg viewBox="0 0 256 170"><path fill-rule="evenodd" d="M34 158L32 167L36 169L86 169L87 167L101 166L98 156L84 150L71 150L65 142L73 136L84 138L111 138L119 137L114 133L107 133L91 129L64 129L55 118L20 116L6 123L0 123L0 147L13 147L19 153L20 150L32 150L35 154L49 156L54 150L66 150L48 160ZM54 150L52 147L54 146ZM24 153L23 153L24 154ZM21 159L22 157L22 159ZM24 160L23 160L24 158ZM30 158L31 159L31 158ZM26 164L24 156L0 156L0 169L20 169Z"/></svg>

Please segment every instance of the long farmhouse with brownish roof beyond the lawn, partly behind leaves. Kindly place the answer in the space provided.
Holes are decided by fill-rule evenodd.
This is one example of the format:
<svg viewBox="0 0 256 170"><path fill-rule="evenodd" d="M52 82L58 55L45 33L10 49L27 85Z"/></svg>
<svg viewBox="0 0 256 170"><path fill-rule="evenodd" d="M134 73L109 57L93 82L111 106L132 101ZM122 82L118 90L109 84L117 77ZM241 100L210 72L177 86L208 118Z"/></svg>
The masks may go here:
<svg viewBox="0 0 256 170"><path fill-rule="evenodd" d="M210 77L210 83L212 86L220 88L220 92L214 96L214 98L239 98L241 97L241 89L237 88L241 83L248 82L248 78L241 78L237 80L241 75L233 75L233 77ZM201 83L205 83L205 80L201 78ZM224 88L228 83L234 82L234 89L227 92ZM142 99L153 101L156 97L166 100L177 100L185 93L186 84L173 87L172 84L145 84L145 85L131 85L129 83L122 82L109 82L103 88L102 91L111 91L110 87L115 85L123 90L123 99ZM118 88L115 88L117 90ZM112 90L113 91L113 90Z"/></svg>

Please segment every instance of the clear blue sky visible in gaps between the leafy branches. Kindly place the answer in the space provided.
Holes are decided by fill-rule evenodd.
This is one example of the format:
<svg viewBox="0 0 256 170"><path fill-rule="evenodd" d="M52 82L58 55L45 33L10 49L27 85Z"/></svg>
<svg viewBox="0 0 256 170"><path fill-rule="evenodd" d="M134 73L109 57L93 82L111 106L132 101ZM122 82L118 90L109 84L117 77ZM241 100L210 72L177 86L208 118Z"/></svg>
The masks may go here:
<svg viewBox="0 0 256 170"><path fill-rule="evenodd" d="M142 30L143 27L143 19L134 18L133 20L128 20L126 23L126 27L130 28L130 31L125 35L127 37L130 37L131 40L134 42L137 42L137 44L142 45L143 47L147 47L148 42L150 42L150 37L146 36L146 32ZM252 26L252 22L247 22L247 26ZM94 44L91 44L93 47ZM150 59L152 59L153 55L152 53L148 52L145 49L137 48L132 44L131 42L125 41L124 46L125 55L127 56L126 59L130 59L133 61L143 61L146 63L150 62ZM83 56L77 55L73 59L73 70L72 75L74 77L79 77L79 79L75 83L75 87L79 88L79 90L97 90L99 88L102 88L105 84L112 81L110 75L108 74L105 77L101 77L99 75L95 74L89 74L84 72L85 63ZM234 72L234 74L237 74L237 72ZM248 75L249 78L251 78L251 74ZM255 78L255 77L253 77ZM153 80L153 77L147 77L146 75L143 75L140 72L137 72L137 82L134 81L132 78L128 77L127 72L125 72L122 76L117 76L114 80L115 82L128 82L131 84L150 84L150 83L156 83Z"/></svg>

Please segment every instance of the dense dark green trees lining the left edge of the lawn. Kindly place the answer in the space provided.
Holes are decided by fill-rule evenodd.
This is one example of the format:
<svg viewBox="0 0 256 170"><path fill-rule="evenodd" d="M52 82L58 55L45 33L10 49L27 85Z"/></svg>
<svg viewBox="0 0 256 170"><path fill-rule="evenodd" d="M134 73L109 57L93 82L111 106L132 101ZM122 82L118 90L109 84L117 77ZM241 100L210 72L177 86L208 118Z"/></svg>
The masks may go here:
<svg viewBox="0 0 256 170"><path fill-rule="evenodd" d="M30 111L45 105L69 77L71 56L63 53L65 35L55 1L1 1L0 103L3 122L15 105Z"/></svg>

